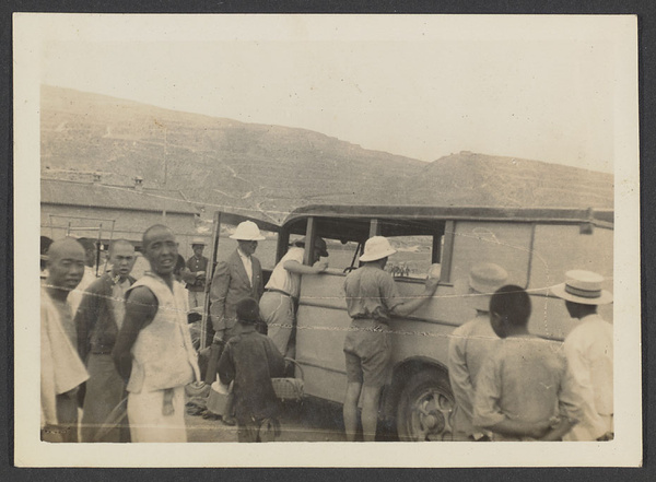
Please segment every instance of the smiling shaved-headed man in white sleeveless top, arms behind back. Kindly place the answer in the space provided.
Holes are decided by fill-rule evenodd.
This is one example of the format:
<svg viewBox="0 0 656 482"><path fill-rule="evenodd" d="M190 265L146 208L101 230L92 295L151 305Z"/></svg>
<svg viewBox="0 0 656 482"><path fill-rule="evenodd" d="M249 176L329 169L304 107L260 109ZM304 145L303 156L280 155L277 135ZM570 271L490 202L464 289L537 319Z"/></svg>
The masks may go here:
<svg viewBox="0 0 656 482"><path fill-rule="evenodd" d="M126 314L114 346L114 363L128 379L132 442L187 442L185 385L200 380L187 326L188 298L173 271L177 243L156 224L143 233L151 271L126 294Z"/></svg>

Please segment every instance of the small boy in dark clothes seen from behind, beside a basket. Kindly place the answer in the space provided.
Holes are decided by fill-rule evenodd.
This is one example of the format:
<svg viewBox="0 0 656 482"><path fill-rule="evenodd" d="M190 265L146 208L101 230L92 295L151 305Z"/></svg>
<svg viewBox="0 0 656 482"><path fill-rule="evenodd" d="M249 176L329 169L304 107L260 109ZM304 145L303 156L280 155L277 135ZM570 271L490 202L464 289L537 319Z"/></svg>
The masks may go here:
<svg viewBox="0 0 656 482"><path fill-rule="evenodd" d="M241 332L219 360L219 377L233 384L239 442L271 442L280 432L279 401L271 378L284 376L284 360L273 341L255 330L260 319L257 302L244 298L236 306Z"/></svg>

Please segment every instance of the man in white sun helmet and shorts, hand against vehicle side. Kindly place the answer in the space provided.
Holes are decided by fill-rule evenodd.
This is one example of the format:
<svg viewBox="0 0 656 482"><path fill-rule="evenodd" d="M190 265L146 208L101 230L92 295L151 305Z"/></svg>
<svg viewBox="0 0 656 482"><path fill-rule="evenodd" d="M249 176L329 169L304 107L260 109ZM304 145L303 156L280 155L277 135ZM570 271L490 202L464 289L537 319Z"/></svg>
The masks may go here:
<svg viewBox="0 0 656 482"><path fill-rule="evenodd" d="M347 442L355 440L361 393L363 439L375 440L380 389L389 378L390 317L407 316L418 309L433 296L440 283L438 278L427 278L424 292L405 301L399 296L391 274L384 271L388 257L395 252L396 249L383 236L367 239L360 257L362 268L344 280L347 309L352 319L344 340L348 384L343 416Z"/></svg>

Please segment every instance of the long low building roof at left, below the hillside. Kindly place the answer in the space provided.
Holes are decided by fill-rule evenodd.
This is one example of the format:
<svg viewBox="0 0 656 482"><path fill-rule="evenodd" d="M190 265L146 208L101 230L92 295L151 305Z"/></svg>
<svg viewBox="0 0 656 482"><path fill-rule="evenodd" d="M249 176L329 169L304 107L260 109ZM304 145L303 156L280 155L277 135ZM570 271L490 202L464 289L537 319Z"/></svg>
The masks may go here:
<svg viewBox="0 0 656 482"><path fill-rule="evenodd" d="M42 179L42 204L79 205L85 208L124 209L167 213L197 214L199 209L185 200L179 191L141 190L98 183Z"/></svg>

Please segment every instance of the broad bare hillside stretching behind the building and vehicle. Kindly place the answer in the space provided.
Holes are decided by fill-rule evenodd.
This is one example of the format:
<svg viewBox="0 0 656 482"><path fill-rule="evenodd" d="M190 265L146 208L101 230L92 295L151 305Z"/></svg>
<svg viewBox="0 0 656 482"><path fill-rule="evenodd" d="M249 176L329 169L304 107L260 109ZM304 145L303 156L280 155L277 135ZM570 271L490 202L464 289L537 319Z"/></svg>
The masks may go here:
<svg viewBox="0 0 656 482"><path fill-rule="evenodd" d="M461 152L433 163L319 132L42 86L42 174L180 190L281 220L307 203L612 207L612 175Z"/></svg>

